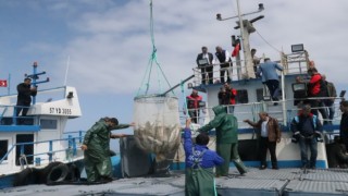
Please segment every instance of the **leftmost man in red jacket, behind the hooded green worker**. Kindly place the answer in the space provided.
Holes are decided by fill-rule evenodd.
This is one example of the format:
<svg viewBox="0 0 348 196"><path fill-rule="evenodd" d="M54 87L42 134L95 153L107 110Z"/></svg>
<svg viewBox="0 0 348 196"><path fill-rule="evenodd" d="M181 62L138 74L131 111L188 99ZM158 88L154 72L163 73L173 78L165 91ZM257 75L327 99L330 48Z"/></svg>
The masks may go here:
<svg viewBox="0 0 348 196"><path fill-rule="evenodd" d="M188 114L194 123L198 123L199 119L199 103L202 101L202 96L198 95L196 89L192 89L191 95L186 97Z"/></svg>

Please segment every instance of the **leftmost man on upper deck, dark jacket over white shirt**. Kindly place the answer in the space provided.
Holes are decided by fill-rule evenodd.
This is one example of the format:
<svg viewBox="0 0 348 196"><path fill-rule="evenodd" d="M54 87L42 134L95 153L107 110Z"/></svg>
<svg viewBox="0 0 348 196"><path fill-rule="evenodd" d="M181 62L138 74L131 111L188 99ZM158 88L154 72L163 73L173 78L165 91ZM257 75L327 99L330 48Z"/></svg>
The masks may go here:
<svg viewBox="0 0 348 196"><path fill-rule="evenodd" d="M213 54L208 52L207 47L202 47L202 53L199 53L196 59L198 68L200 68L202 84L213 84ZM207 78L208 74L208 78Z"/></svg>

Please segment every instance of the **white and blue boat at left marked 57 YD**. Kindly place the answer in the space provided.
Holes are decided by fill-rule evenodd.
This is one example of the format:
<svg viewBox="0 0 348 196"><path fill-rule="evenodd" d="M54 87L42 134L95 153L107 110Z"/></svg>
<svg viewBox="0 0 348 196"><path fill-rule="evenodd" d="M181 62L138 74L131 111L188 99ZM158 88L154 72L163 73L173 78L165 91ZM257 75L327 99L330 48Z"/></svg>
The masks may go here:
<svg viewBox="0 0 348 196"><path fill-rule="evenodd" d="M26 75L36 87L49 82L49 78L38 81L39 75L46 72L38 72L37 69L38 64L34 62L33 74ZM26 117L16 117L16 94L0 97L0 188L33 183L28 179L33 169L44 169L53 166L52 162L77 163L83 159L78 147L83 132L65 132L67 121L82 115L74 87L38 90ZM23 171L27 173L15 180L15 174ZM44 181L50 172L47 169L41 173Z"/></svg>

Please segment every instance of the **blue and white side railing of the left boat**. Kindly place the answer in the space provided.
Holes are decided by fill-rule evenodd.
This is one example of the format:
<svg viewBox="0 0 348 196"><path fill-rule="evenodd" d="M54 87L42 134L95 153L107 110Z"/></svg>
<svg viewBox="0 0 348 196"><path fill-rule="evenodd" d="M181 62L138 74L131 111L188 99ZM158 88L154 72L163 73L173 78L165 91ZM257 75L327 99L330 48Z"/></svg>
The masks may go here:
<svg viewBox="0 0 348 196"><path fill-rule="evenodd" d="M73 136L72 134L78 134L78 136ZM78 146L82 145L83 143L83 137L84 137L84 134L85 132L84 131L78 131L78 132L69 132L67 134L67 137L66 138L60 138L60 139L50 139L50 140L40 140L40 142L30 142L30 143L17 143L17 144L14 144L11 146L11 148L7 151L7 154L0 159L0 166L5 161L8 160L9 156L11 155L11 152L14 152L16 150L16 148L20 148L20 159L18 160L23 160L24 158L26 159L27 157L33 157L33 159L35 157L37 157L35 159L35 163L36 164L40 164L40 161L41 160L45 160L45 159L41 159L39 156L42 156L42 155L47 155L47 160L49 162L52 162L53 161L53 156L54 154L57 152L64 152L66 154L66 157L67 157L67 160L71 160L73 157L76 157L77 156L77 149L78 149ZM61 143L61 142L66 142L67 145L65 145L66 147L62 147L62 148L59 148L59 149L54 149L54 144L58 144L58 143ZM25 155L25 147L28 146L28 145L42 145L42 144L46 144L48 145L48 149L46 150L41 150L40 148L40 152L36 152L36 154L33 154L33 155ZM22 158L22 159L21 159ZM27 164L27 161L25 161L25 163ZM20 164L23 167L23 162L20 162Z"/></svg>

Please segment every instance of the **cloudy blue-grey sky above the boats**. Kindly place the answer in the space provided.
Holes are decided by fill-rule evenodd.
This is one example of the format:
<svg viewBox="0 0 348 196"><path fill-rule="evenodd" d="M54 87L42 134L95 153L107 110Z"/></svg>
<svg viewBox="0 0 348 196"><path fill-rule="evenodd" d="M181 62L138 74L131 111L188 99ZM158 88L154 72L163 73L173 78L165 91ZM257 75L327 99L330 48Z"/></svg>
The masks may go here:
<svg viewBox="0 0 348 196"><path fill-rule="evenodd" d="M0 0L0 79L11 74L11 93L32 72L34 61L46 71L47 89L64 84L77 88L83 117L69 131L87 130L101 117L133 120L134 97L141 85L152 52L149 0ZM243 13L264 15L253 26L251 48L259 56L279 59L294 44L303 44L320 73L347 86L347 0L248 0ZM158 62L171 85L192 74L202 46L232 50L236 20L235 0L153 0L153 33ZM67 70L67 74L66 73ZM65 82L66 78L66 82ZM150 89L163 90L151 82ZM7 88L0 88L5 95ZM176 95L182 97L181 91Z"/></svg>

